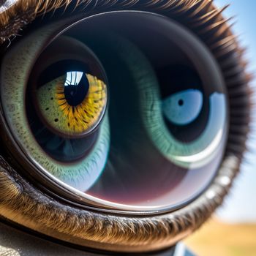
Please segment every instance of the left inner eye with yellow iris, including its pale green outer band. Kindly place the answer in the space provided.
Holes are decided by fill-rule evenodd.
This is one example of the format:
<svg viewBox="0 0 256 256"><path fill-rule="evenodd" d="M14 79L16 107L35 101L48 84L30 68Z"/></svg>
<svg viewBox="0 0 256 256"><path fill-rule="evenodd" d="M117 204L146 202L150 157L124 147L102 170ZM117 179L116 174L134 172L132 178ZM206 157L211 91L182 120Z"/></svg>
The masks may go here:
<svg viewBox="0 0 256 256"><path fill-rule="evenodd" d="M34 50L39 46L35 42ZM70 47L73 50L67 50ZM25 83L22 76L32 54L14 56L17 69L11 58L5 66L10 83L3 86L2 99L7 113L12 113L10 124L26 154L42 170L76 189L89 189L105 166L110 144L104 72L82 42L64 37L39 56L27 86L20 86L16 79Z"/></svg>

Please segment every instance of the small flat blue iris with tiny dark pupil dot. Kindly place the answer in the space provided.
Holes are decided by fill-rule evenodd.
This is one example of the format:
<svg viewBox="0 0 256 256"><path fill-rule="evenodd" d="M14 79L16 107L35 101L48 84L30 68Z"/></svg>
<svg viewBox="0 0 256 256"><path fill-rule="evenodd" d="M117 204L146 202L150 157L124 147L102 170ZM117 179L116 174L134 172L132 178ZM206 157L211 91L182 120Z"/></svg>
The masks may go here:
<svg viewBox="0 0 256 256"><path fill-rule="evenodd" d="M165 118L178 125L186 125L194 121L202 107L203 94L195 89L180 91L162 100L162 112Z"/></svg>

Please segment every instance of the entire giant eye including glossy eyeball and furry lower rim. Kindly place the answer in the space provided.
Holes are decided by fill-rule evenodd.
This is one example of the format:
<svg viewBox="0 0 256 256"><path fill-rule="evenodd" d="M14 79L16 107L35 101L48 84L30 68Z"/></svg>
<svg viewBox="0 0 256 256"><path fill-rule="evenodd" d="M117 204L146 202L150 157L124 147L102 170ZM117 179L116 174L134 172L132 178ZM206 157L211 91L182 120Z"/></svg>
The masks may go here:
<svg viewBox="0 0 256 256"><path fill-rule="evenodd" d="M234 76L246 87L241 56L222 42L228 28L211 27L211 3L132 2L46 22L1 60L5 154L23 179L15 188L37 201L22 210L29 227L118 252L162 249L199 227L238 170L247 125L230 86Z"/></svg>

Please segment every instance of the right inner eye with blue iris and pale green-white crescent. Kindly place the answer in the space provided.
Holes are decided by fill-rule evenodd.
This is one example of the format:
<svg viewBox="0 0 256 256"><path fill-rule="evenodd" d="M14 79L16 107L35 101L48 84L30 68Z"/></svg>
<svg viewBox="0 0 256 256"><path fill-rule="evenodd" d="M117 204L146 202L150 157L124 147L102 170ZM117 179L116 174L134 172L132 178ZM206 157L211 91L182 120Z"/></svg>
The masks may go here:
<svg viewBox="0 0 256 256"><path fill-rule="evenodd" d="M143 92L148 107L154 106L153 114L152 107L144 109L144 121L151 140L167 159L195 169L205 167L219 152L225 136L226 99L224 91L214 86L216 82L203 83L187 68L181 72L177 67L165 69L163 82L170 88Z"/></svg>

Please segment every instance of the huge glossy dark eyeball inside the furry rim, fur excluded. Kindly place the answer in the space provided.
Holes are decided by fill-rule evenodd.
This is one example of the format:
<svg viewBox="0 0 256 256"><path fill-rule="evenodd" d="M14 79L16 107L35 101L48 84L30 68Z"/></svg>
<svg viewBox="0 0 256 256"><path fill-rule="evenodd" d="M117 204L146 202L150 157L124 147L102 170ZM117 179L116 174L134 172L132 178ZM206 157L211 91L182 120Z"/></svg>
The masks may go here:
<svg viewBox="0 0 256 256"><path fill-rule="evenodd" d="M29 172L71 203L116 211L170 211L200 195L217 173L227 135L225 86L205 46L172 20L150 13L97 15L57 37L56 27L31 34L19 53L13 49L4 59L1 102ZM86 58L77 54L82 49ZM91 68L81 68L84 63ZM185 79L177 75L182 70ZM91 79L100 84L104 106L89 131L70 131L71 121L56 116L57 97L53 110L48 107L56 95L49 89L59 81L61 97L72 101L64 92L72 72L85 75L86 96ZM191 112L175 118L181 106L171 102L181 96Z"/></svg>

